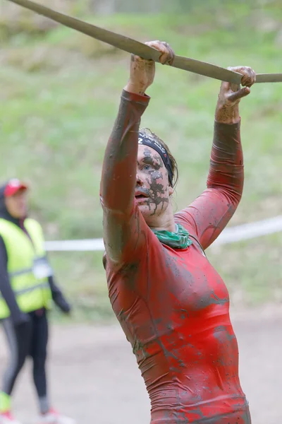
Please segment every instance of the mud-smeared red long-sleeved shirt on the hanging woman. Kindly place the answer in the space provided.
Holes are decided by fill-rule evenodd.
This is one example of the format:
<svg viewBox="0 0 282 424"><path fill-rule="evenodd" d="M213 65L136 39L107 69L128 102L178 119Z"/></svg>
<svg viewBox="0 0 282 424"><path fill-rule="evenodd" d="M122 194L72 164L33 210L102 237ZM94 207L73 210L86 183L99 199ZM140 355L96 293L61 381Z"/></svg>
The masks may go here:
<svg viewBox="0 0 282 424"><path fill-rule="evenodd" d="M120 146L123 137L135 142L132 129L139 128L148 101L123 92L111 136L120 139ZM239 127L215 123L208 188L175 216L176 223L204 249L223 230L240 201ZM123 178L121 163L130 160L123 157L113 160L107 178L118 173ZM132 208L121 208L122 193L119 199L105 181L101 194L104 225L111 225L112 240L121 249L118 263L106 257L109 298L145 380L151 423L250 424L238 377L238 344L229 317L228 290L221 277L194 240L187 249L162 245L134 198ZM105 240L106 247L109 242Z"/></svg>

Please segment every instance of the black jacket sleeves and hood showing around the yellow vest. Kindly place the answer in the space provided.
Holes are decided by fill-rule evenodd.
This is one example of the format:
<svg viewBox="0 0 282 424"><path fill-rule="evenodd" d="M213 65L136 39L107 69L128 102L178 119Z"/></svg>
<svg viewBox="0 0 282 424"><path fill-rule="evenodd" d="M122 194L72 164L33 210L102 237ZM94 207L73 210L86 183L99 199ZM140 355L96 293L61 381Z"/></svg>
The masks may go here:
<svg viewBox="0 0 282 424"><path fill-rule="evenodd" d="M13 218L10 213L8 213L5 202L4 202L4 190L5 190L6 184L4 184L2 187L0 187L0 218L4 218L11 223L14 223L15 225L18 225L19 228L21 228L24 232L28 232L25 228L25 220L24 219L16 219ZM13 320L14 324L21 324L21 322L25 322L25 314L20 311L18 304L16 302L16 296L13 293L13 290L11 288L10 279L8 276L8 256L6 251L6 246L4 243L3 238L0 235L0 292L3 296L4 300L6 301L6 304L8 305L8 308L11 312L11 319ZM63 312L70 312L71 307L68 305L68 302L63 297L63 293L61 293L61 290L54 282L54 277L49 277L49 285L51 288L52 298L56 305L63 311Z"/></svg>

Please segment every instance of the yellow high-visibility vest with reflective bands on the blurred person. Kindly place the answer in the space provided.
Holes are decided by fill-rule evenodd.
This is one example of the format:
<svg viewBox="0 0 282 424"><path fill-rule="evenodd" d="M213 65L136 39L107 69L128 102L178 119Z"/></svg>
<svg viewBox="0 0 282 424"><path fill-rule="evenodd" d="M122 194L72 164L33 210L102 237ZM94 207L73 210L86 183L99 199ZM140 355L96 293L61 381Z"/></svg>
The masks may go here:
<svg viewBox="0 0 282 424"><path fill-rule="evenodd" d="M27 218L25 228L0 218L0 235L4 240L8 257L8 275L23 312L51 307L51 289L48 276L51 268L46 259L42 227L36 220ZM30 240L31 238L31 240ZM0 319L10 316L10 310L0 293Z"/></svg>

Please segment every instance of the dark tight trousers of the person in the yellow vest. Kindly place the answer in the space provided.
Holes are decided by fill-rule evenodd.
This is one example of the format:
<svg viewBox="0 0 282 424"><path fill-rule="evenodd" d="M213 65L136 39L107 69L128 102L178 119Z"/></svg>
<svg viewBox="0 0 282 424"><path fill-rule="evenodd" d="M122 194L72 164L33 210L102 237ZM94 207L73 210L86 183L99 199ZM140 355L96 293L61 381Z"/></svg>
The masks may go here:
<svg viewBox="0 0 282 424"><path fill-rule="evenodd" d="M45 310L30 312L29 321L14 326L10 318L1 323L10 350L8 366L4 372L2 390L11 395L16 379L28 356L33 362L33 379L39 397L41 412L49 409L45 363L47 359L48 322Z"/></svg>

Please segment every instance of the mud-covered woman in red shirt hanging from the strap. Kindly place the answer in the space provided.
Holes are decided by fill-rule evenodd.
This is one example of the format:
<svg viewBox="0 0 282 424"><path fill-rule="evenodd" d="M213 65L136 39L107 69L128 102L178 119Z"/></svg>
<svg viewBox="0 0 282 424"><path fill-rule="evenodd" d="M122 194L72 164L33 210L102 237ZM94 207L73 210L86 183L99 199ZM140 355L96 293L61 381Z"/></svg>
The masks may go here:
<svg viewBox="0 0 282 424"><path fill-rule="evenodd" d="M162 64L173 63L167 43L148 44ZM228 290L204 253L243 192L238 104L250 94L255 72L231 69L242 74L244 87L221 83L207 189L187 208L173 213L178 170L168 146L140 130L154 61L131 57L106 147L100 196L109 298L145 380L152 424L251 423ZM166 138L173 143L173 129ZM183 155L193 155L188 143Z"/></svg>

